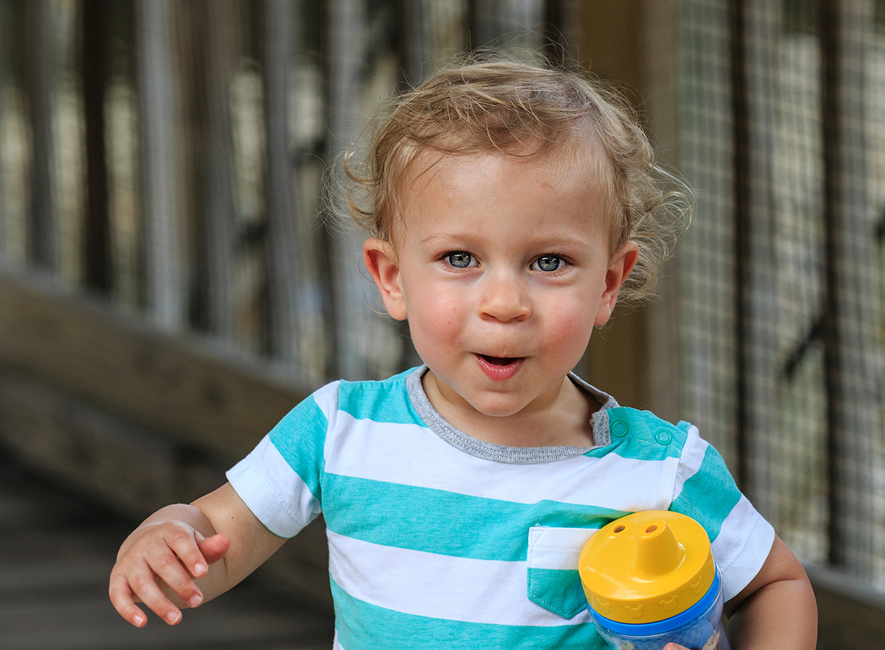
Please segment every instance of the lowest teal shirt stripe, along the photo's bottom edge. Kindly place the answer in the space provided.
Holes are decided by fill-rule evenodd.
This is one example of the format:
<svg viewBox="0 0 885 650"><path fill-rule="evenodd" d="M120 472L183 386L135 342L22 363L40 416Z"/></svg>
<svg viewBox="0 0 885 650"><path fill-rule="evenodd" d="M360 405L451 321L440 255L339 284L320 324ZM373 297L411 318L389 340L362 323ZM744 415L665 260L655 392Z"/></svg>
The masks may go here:
<svg viewBox="0 0 885 650"><path fill-rule="evenodd" d="M403 614L353 598L331 580L335 630L344 650L603 650L593 623L534 627L465 623Z"/></svg>

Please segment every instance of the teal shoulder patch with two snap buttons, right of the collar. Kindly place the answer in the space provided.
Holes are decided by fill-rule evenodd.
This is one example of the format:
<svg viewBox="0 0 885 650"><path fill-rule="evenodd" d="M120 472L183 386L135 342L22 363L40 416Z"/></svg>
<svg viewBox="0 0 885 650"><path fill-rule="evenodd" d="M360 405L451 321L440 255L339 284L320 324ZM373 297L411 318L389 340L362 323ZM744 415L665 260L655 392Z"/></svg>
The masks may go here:
<svg viewBox="0 0 885 650"><path fill-rule="evenodd" d="M593 449L588 456L614 452L621 458L663 461L678 458L688 439L682 427L662 420L650 411L618 407L609 409L609 432L612 444Z"/></svg>

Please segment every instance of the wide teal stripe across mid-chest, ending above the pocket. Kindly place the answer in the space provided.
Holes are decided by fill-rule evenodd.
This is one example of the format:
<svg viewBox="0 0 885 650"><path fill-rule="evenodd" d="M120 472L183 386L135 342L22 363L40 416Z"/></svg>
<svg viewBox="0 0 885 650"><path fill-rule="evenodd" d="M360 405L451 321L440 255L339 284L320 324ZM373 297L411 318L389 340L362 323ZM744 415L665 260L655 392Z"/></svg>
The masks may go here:
<svg viewBox="0 0 885 650"><path fill-rule="evenodd" d="M373 544L477 560L525 561L535 524L601 528L627 512L558 501L514 503L327 473L330 531ZM518 531L518 532L514 532Z"/></svg>

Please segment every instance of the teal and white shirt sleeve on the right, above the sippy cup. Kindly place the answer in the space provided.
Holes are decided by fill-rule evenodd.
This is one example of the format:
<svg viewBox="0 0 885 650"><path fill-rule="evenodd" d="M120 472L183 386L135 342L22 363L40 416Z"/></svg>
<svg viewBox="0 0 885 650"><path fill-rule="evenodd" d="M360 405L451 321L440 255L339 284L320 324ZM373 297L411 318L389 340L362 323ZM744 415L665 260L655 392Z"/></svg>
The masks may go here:
<svg viewBox="0 0 885 650"><path fill-rule="evenodd" d="M712 445L689 427L670 509L696 519L710 537L725 599L756 577L774 542L774 529L735 485Z"/></svg>

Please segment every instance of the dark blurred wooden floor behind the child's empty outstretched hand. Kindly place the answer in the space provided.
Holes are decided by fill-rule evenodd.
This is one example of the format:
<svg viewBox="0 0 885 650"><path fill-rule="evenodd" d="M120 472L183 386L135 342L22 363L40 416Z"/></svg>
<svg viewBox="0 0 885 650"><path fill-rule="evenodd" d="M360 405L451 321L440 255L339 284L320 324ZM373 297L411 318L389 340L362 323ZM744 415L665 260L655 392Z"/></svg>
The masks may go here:
<svg viewBox="0 0 885 650"><path fill-rule="evenodd" d="M328 650L333 621L255 579L169 626L107 596L133 522L0 459L0 650Z"/></svg>

